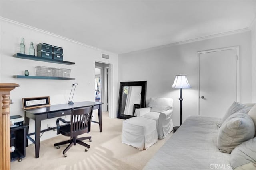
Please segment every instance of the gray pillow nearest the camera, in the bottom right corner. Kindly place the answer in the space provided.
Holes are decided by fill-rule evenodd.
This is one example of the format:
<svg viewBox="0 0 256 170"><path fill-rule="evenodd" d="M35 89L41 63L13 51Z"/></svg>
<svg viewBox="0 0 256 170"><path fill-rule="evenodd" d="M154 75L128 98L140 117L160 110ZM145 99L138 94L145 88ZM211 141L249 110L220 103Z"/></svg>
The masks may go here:
<svg viewBox="0 0 256 170"><path fill-rule="evenodd" d="M230 154L230 166L232 168L248 163L256 164L256 137L238 145Z"/></svg>

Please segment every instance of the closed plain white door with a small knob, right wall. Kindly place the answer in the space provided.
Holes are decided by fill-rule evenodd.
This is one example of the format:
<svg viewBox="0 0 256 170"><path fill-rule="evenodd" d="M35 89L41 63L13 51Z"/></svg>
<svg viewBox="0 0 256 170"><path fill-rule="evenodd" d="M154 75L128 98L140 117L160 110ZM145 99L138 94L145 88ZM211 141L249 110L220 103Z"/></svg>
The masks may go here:
<svg viewBox="0 0 256 170"><path fill-rule="evenodd" d="M239 101L239 48L198 53L200 115L221 118L234 101Z"/></svg>

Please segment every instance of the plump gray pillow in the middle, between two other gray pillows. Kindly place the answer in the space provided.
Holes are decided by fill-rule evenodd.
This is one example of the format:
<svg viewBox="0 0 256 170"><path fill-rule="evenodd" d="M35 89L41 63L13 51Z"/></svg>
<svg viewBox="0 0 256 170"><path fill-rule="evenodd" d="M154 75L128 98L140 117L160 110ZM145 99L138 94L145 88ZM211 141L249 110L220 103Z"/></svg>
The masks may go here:
<svg viewBox="0 0 256 170"><path fill-rule="evenodd" d="M231 153L237 146L254 137L254 123L244 111L232 114L219 129L217 147L220 152Z"/></svg>

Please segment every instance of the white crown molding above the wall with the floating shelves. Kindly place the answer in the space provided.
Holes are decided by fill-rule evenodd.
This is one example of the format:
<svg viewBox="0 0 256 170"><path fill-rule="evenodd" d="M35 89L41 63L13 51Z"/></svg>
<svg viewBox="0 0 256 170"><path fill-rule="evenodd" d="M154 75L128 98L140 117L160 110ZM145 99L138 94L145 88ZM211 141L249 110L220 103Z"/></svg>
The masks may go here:
<svg viewBox="0 0 256 170"><path fill-rule="evenodd" d="M103 50L103 49L99 49L97 47L93 47L93 46L90 46L90 45L87 45L87 44L84 44L84 43L81 43L81 42L78 42L78 41L75 41L75 40L72 40L72 39L69 39L69 38L66 38L66 37L62 37L60 35L57 35L57 34L54 34L54 33L50 33L48 31L44 31L42 29L38 29L36 27L32 27L30 25L26 25L26 24L23 24L23 23L20 23L20 22L17 22L17 21L13 21L13 20L9 20L7 18L4 18L4 17L0 17L0 21L5 21L7 23L12 23L14 25L19 25L19 26L22 26L22 27L26 27L28 29L32 29L34 31L38 31L38 32L41 32L41 33L45 33L45 34L48 34L48 35L51 35L51 36L54 36L54 37L57 37L57 38L60 38L60 39L64 39L66 41L70 41L72 43L76 43L76 44L79 44L79 45L82 45L82 46L85 46L85 47L89 47L89 48L92 48L92 49L96 49L98 51L101 51L101 53L110 53L110 54L114 54L114 55L117 55L116 53L113 53L113 52L110 52L110 51L106 51L106 50Z"/></svg>

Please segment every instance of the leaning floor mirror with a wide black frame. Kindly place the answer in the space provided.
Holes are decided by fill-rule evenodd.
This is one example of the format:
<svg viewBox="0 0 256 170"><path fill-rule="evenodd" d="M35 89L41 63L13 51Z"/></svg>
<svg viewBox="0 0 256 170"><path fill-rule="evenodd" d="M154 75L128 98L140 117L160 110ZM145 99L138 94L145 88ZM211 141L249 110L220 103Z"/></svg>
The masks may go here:
<svg viewBox="0 0 256 170"><path fill-rule="evenodd" d="M147 81L120 82L117 118L134 117L135 109L146 107Z"/></svg>

